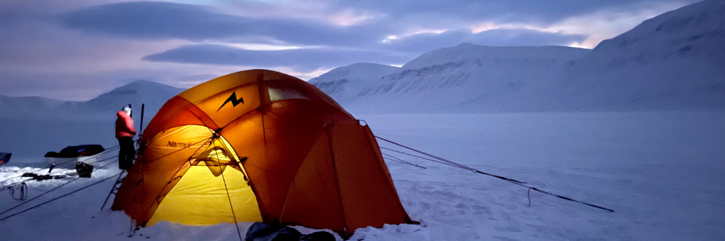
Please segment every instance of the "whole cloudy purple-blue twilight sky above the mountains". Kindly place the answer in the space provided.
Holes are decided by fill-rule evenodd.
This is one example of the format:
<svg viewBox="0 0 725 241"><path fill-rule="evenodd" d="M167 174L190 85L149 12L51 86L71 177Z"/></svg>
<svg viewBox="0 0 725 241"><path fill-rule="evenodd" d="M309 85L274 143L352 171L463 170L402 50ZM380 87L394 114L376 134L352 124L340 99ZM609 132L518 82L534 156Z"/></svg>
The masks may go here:
<svg viewBox="0 0 725 241"><path fill-rule="evenodd" d="M244 69L304 80L460 43L594 48L697 0L2 0L0 95L86 101Z"/></svg>

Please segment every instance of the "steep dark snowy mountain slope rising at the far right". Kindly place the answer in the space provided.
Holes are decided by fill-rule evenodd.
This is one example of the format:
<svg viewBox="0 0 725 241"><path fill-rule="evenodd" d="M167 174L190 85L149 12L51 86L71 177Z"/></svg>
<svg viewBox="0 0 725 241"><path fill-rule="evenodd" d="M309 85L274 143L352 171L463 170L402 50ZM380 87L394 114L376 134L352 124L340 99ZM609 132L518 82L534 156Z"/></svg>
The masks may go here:
<svg viewBox="0 0 725 241"><path fill-rule="evenodd" d="M574 109L724 109L725 1L666 12L567 69Z"/></svg>

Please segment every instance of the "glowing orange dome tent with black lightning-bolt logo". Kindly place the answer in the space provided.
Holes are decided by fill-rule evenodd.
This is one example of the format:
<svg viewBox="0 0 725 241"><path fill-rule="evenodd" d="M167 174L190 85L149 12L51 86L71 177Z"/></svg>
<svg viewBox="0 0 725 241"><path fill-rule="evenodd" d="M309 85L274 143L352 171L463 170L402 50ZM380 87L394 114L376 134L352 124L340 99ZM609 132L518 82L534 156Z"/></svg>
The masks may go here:
<svg viewBox="0 0 725 241"><path fill-rule="evenodd" d="M167 101L112 208L141 227L265 221L352 234L413 222L370 128L313 85L262 69Z"/></svg>

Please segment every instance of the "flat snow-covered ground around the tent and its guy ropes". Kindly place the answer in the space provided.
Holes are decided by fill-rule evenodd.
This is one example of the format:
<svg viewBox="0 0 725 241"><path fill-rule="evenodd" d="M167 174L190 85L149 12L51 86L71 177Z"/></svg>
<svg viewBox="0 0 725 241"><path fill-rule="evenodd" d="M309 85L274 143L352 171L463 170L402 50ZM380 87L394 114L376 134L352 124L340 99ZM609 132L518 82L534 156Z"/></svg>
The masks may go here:
<svg viewBox="0 0 725 241"><path fill-rule="evenodd" d="M357 117L383 138L616 212L536 192L527 207L526 188L386 151L427 168L388 162L403 206L422 224L358 229L352 240L725 239L725 112ZM17 165L30 167L19 170ZM11 161L1 167L0 180L37 166ZM93 178L61 187L17 211L117 172L97 170ZM0 240L239 240L233 224L169 223L141 229L129 239L128 216L99 212L112 179L0 221ZM28 182L28 198L65 182ZM0 211L17 203L0 193ZM244 232L249 224L239 227Z"/></svg>

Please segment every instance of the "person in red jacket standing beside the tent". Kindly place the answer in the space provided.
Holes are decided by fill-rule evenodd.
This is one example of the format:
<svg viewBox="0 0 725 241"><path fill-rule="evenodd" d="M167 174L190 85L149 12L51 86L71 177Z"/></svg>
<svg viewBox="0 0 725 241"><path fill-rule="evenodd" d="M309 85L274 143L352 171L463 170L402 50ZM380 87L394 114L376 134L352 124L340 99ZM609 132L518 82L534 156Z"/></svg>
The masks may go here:
<svg viewBox="0 0 725 241"><path fill-rule="evenodd" d="M133 136L136 130L133 129L133 119L130 117L130 106L123 107L122 111L116 113L116 138L120 150L118 151L118 168L128 170L133 166L133 158L136 150L133 148Z"/></svg>

